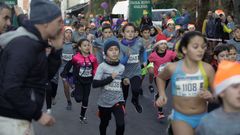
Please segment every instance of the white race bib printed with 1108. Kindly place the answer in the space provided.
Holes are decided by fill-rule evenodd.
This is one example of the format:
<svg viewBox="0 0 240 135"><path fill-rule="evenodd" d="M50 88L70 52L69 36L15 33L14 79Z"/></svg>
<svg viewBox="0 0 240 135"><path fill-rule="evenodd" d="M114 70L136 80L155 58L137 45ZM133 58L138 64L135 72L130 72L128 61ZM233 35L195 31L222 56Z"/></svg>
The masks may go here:
<svg viewBox="0 0 240 135"><path fill-rule="evenodd" d="M196 97L203 89L203 78L196 76L176 78L176 95L184 97Z"/></svg>

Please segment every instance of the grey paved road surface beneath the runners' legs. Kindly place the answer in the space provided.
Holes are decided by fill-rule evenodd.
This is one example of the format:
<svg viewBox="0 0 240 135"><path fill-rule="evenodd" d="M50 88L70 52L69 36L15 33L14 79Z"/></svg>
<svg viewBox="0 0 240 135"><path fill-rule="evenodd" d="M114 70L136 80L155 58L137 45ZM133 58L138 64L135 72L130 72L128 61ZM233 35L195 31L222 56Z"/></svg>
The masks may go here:
<svg viewBox="0 0 240 135"><path fill-rule="evenodd" d="M157 111L153 107L153 95L148 91L148 80L146 78L143 84L143 89L143 96L140 97L140 103L143 106L142 114L137 113L134 110L133 105L130 102L127 102L125 135L165 135L167 119L160 121L157 120ZM73 110L67 111L65 109L66 99L61 84L58 88L58 94L56 97L57 104L53 106L52 109L52 115L56 118L56 124L53 127L46 128L34 123L36 135L99 135L99 118L96 115L98 94L98 89L92 89L89 99L89 108L86 114L88 124L81 124L79 122L81 104L72 100ZM131 97L131 95L129 97ZM168 107L164 108L165 114L170 113L170 104L171 103L169 102L167 105ZM44 110L46 110L45 107ZM108 135L115 134L114 117L112 117L107 133Z"/></svg>

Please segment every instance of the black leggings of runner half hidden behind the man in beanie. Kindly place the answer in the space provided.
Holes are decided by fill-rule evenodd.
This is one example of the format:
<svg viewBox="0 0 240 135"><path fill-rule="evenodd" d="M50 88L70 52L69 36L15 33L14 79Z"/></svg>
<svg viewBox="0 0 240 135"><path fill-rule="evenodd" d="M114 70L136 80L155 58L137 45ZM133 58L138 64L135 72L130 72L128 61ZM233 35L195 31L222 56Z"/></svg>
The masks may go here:
<svg viewBox="0 0 240 135"><path fill-rule="evenodd" d="M57 95L58 84L54 82L49 82L46 89L46 104L47 109L52 107L52 98L55 98Z"/></svg>

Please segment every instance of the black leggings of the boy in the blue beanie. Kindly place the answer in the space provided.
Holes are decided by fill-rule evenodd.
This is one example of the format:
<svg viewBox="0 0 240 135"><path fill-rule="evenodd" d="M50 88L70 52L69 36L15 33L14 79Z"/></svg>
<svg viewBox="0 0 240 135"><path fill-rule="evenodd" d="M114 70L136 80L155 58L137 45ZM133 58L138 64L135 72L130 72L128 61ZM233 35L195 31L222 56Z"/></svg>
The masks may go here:
<svg viewBox="0 0 240 135"><path fill-rule="evenodd" d="M116 135L123 135L125 129L124 120L124 103L119 102L111 108L105 108L98 106L99 118L101 120L99 125L100 135L106 135L109 121L111 120L111 114L113 113L116 120Z"/></svg>

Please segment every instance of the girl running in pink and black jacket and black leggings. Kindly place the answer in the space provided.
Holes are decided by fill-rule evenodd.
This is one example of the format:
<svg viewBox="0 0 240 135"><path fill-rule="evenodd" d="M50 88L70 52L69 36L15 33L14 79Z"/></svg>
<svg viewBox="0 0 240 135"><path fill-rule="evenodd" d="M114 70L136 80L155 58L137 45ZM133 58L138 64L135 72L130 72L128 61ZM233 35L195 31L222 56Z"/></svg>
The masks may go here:
<svg viewBox="0 0 240 135"><path fill-rule="evenodd" d="M73 78L75 83L74 98L76 102L82 102L80 122L87 123L85 113L88 107L88 98L91 90L91 83L97 70L97 59L90 54L90 41L81 39L77 43L77 53L64 67L61 73L62 78L66 78L73 67Z"/></svg>

